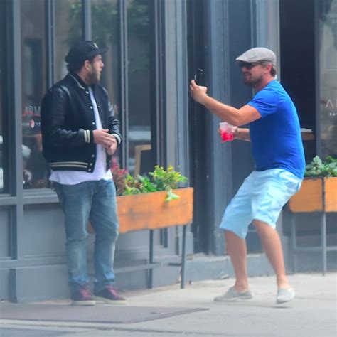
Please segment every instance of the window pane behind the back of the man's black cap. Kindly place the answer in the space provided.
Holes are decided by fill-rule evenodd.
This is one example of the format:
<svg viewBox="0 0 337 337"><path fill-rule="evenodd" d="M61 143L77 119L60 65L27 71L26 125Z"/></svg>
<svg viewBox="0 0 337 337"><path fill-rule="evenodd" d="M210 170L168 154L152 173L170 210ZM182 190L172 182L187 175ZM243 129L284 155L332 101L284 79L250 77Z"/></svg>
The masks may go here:
<svg viewBox="0 0 337 337"><path fill-rule="evenodd" d="M55 82L67 75L65 55L70 46L80 38L82 38L82 2L55 1Z"/></svg>

